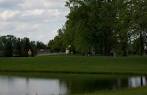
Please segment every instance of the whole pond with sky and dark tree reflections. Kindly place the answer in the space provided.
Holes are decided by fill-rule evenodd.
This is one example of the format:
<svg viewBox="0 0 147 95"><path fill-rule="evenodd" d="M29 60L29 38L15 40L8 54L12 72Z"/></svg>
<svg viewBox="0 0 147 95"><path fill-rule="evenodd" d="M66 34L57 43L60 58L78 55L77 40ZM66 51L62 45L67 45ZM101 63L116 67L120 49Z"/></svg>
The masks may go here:
<svg viewBox="0 0 147 95"><path fill-rule="evenodd" d="M147 77L121 78L29 78L0 76L0 95L69 95L147 85Z"/></svg>

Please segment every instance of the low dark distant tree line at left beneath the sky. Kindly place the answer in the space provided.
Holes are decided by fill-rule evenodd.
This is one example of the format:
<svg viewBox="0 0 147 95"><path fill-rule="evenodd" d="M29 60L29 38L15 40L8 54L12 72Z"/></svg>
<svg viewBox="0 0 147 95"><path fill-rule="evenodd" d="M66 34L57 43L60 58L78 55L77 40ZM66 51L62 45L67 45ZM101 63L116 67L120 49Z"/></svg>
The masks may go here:
<svg viewBox="0 0 147 95"><path fill-rule="evenodd" d="M38 49L44 49L42 42L30 41L29 38L17 38L13 35L0 37L0 56L5 57L28 57L36 56Z"/></svg>

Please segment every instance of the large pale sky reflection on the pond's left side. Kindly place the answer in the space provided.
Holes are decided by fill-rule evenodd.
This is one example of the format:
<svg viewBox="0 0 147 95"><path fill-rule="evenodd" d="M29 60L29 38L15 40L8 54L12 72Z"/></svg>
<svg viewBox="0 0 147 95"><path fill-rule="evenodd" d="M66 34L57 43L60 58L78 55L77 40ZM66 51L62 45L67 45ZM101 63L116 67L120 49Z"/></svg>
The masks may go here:
<svg viewBox="0 0 147 95"><path fill-rule="evenodd" d="M65 95L65 85L58 79L0 77L0 95Z"/></svg>

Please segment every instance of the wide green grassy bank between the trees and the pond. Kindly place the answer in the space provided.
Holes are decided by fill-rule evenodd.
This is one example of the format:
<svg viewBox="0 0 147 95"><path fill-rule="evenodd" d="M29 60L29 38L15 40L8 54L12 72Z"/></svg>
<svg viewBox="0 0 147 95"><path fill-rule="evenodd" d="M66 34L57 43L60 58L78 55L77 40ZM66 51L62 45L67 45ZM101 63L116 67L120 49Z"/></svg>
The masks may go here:
<svg viewBox="0 0 147 95"><path fill-rule="evenodd" d="M32 58L0 58L0 71L147 74L147 57L40 56Z"/></svg>

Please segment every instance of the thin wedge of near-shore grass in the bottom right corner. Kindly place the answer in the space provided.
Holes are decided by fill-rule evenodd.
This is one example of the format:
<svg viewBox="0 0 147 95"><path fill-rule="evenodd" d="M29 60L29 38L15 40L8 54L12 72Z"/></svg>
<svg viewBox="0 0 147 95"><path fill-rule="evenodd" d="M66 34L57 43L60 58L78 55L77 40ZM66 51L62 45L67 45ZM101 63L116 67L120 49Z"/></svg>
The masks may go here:
<svg viewBox="0 0 147 95"><path fill-rule="evenodd" d="M75 94L75 95L147 95L147 87L124 89L119 91L101 91L87 94Z"/></svg>

